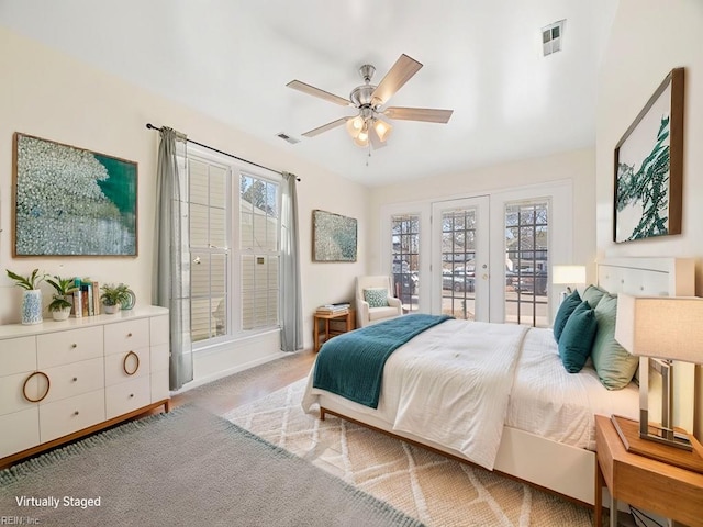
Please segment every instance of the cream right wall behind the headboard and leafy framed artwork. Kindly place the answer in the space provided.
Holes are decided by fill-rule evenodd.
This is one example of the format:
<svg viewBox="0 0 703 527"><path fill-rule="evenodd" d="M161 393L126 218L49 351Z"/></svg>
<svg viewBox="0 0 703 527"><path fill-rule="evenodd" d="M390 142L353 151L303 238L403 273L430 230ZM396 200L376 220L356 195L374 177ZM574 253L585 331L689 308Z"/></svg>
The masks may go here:
<svg viewBox="0 0 703 527"><path fill-rule="evenodd" d="M703 295L703 2L621 0L599 79L596 239L599 257L677 256L696 260ZM671 69L685 68L682 234L614 244L613 150ZM698 423L703 439L703 370L698 368Z"/></svg>

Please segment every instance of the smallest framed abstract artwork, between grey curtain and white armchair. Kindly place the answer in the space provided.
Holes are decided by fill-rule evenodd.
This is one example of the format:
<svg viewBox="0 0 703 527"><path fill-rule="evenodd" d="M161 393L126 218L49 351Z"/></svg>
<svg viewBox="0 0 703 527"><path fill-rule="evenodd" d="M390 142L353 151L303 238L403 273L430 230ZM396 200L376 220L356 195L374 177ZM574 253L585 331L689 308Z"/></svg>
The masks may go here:
<svg viewBox="0 0 703 527"><path fill-rule="evenodd" d="M312 211L313 261L356 261L357 222L354 217Z"/></svg>

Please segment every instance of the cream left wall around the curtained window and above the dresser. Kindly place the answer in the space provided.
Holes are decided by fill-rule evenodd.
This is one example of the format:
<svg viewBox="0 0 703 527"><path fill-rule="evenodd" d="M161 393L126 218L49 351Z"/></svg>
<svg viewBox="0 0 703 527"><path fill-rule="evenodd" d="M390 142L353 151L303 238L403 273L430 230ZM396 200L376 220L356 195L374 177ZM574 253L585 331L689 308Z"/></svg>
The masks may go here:
<svg viewBox="0 0 703 527"><path fill-rule="evenodd" d="M368 229L368 190L338 175L301 160L293 145L264 144L174 101L107 75L43 44L0 27L0 324L19 322L21 290L4 273L90 276L104 282L129 283L138 303L149 302L153 221L158 134L145 125L168 125L194 141L231 152L279 170L297 173L300 243L305 315L305 347L312 341L312 312L322 303L353 298L354 278L365 272L366 244L359 236L355 264L316 264L311 258L312 210L323 209L359 220ZM138 257L136 258L12 258L12 134L22 132L138 162ZM45 296L51 291L45 289ZM264 339L257 352L241 354L245 362L278 352L278 340ZM241 366L236 350L224 350L199 377ZM198 365L198 363L197 363ZM198 366L197 366L197 374Z"/></svg>

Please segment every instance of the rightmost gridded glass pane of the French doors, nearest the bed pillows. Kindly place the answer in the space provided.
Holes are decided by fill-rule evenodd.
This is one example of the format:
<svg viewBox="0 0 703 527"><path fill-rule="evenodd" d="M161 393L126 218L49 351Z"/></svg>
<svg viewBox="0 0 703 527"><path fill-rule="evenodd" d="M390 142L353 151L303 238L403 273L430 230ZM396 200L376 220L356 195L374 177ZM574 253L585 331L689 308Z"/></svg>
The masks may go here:
<svg viewBox="0 0 703 527"><path fill-rule="evenodd" d="M549 324L549 202L505 206L505 322Z"/></svg>

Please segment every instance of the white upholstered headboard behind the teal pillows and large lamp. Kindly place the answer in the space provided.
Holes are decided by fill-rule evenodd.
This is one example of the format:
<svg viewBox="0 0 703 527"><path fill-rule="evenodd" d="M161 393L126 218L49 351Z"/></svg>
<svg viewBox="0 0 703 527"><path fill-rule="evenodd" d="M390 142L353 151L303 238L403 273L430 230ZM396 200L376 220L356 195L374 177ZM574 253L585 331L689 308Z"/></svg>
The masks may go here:
<svg viewBox="0 0 703 527"><path fill-rule="evenodd" d="M611 258L598 262L598 283L606 291L641 296L695 295L695 260L693 258ZM703 321L702 321L703 323ZM640 358L640 368L647 359ZM700 368L691 363L674 365L676 393L673 422L703 435L703 380ZM698 378L696 378L698 373ZM650 397L654 400L650 384Z"/></svg>

